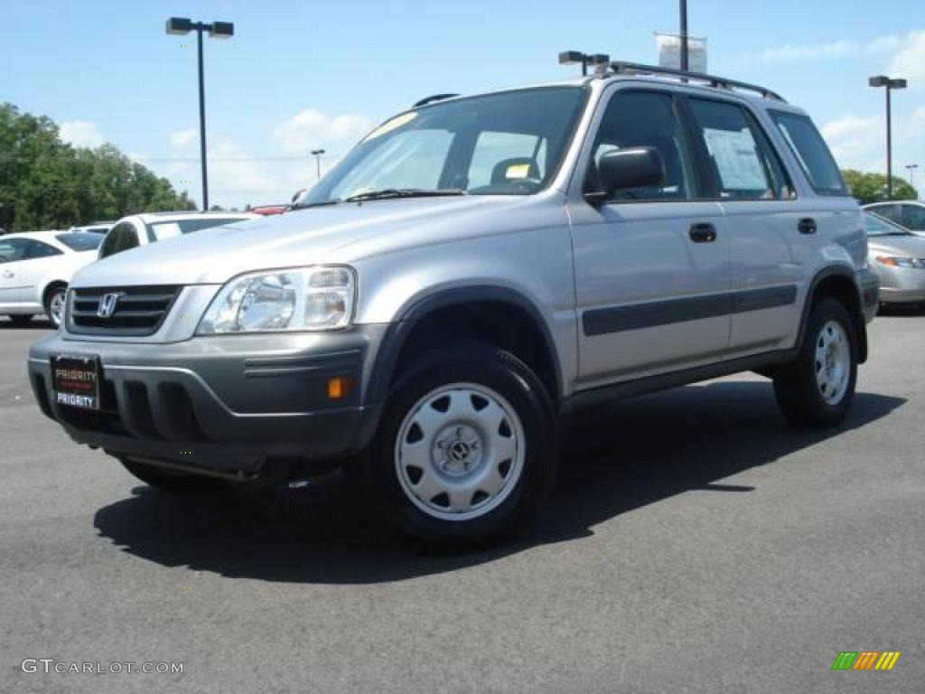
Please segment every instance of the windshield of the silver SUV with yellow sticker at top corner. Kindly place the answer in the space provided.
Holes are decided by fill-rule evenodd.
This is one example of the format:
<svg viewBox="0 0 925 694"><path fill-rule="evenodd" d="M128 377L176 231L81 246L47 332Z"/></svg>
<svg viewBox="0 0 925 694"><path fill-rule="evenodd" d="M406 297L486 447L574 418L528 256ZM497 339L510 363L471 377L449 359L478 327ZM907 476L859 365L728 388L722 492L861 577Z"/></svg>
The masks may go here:
<svg viewBox="0 0 925 694"><path fill-rule="evenodd" d="M583 94L581 87L543 87L408 111L369 133L296 206L377 192L537 192L559 167Z"/></svg>

